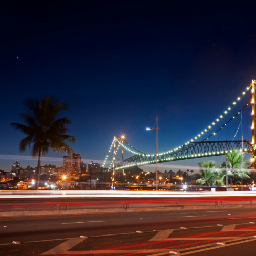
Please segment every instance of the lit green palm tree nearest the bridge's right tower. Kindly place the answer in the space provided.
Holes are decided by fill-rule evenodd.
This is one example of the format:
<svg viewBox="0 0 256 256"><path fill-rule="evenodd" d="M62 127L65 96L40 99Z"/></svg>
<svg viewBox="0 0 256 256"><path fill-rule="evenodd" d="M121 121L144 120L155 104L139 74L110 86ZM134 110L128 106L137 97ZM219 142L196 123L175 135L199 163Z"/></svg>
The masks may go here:
<svg viewBox="0 0 256 256"><path fill-rule="evenodd" d="M248 160L244 160L243 161L243 165L242 165L242 158L244 157L244 153L241 154L239 150L234 150L231 152L227 152L227 154L225 155L225 158L227 159L227 167L228 169L230 169L230 172L232 174L230 174L228 172L228 176L229 175L234 175L234 177L238 178L238 179L248 179L250 178L250 176L248 175L249 172L244 171L241 172L241 170L237 170L237 169L244 169L246 168L246 166L249 164ZM220 166L220 168L226 168L226 163L223 162Z"/></svg>

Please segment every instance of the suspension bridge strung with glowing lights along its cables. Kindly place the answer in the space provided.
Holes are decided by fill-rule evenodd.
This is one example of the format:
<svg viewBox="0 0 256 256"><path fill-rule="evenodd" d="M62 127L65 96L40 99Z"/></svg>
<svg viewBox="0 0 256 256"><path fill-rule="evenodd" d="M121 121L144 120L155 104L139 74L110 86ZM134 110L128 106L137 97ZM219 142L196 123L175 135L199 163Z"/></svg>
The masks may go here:
<svg viewBox="0 0 256 256"><path fill-rule="evenodd" d="M255 87L256 81L252 80L250 86L248 86L239 97L237 97L230 106L211 122L207 127L202 129L202 131L191 138L189 141L183 143L182 145L173 148L169 151L156 154L148 154L137 150L131 144L129 144L124 136L120 138L114 137L112 144L110 146L108 155L106 156L103 167L106 167L106 162L109 156L112 154L111 163L108 170L112 170L113 174L118 170L129 169L132 167L138 167L149 164L165 163L172 161L179 161L191 158L202 158L210 156L222 156L228 152L241 151L242 153L252 153L251 160L254 160L254 149L253 145L255 142ZM243 115L242 115L243 113ZM239 118L241 116L240 122ZM243 118L242 120L242 116ZM228 117L228 118L227 118ZM249 121L248 119L252 120ZM247 122L247 123L246 123ZM243 135L241 139L238 134L238 129L244 124L244 127L249 126L250 132L245 130L245 135L249 137L250 140L243 140ZM231 130L235 134L233 139L230 139L230 125ZM226 140L216 140L216 137L221 134ZM229 130L229 140L227 139ZM231 131L231 133L232 133ZM213 139L213 140L212 140ZM113 149L113 153L112 152ZM114 175L113 175L114 176Z"/></svg>

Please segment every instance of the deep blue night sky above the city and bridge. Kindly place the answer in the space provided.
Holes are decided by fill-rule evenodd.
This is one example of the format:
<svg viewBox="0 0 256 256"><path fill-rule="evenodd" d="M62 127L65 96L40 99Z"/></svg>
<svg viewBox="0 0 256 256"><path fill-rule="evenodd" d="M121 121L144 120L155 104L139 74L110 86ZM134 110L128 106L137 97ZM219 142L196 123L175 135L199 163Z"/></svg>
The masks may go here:
<svg viewBox="0 0 256 256"><path fill-rule="evenodd" d="M102 163L122 133L155 154L155 131L145 128L156 116L159 152L195 137L256 78L255 5L248 3L2 3L0 169L9 172L15 160L24 168L37 165L29 149L20 153L24 135L10 126L22 122L18 114L28 97L52 95L68 103L63 116L77 139L72 147L86 163ZM42 163L61 166L62 156L49 153ZM159 170L195 169L198 161Z"/></svg>

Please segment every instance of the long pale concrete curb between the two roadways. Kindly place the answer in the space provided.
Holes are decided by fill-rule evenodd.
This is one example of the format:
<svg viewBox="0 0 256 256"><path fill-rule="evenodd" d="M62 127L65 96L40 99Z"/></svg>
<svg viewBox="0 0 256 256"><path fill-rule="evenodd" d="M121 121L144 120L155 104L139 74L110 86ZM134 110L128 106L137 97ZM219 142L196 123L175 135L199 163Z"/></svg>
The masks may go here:
<svg viewBox="0 0 256 256"><path fill-rule="evenodd" d="M3 211L0 217L19 216L41 216L41 215L70 215L70 214L102 214L115 212L136 212L136 211L173 211L186 209L223 209L223 208L246 208L256 205L217 205L217 206L183 206L183 207L158 207L158 208L113 208L113 209L77 209L77 210L36 210L36 211Z"/></svg>

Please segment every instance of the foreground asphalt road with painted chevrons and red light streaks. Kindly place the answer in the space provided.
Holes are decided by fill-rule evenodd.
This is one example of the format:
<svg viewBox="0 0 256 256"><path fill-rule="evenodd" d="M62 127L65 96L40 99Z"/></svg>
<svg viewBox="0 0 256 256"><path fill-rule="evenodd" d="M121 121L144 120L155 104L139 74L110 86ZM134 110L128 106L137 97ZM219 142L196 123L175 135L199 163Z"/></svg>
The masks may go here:
<svg viewBox="0 0 256 256"><path fill-rule="evenodd" d="M256 222L255 211L250 207L0 218L0 255L255 255L256 224L249 223Z"/></svg>

